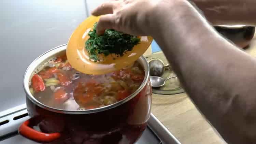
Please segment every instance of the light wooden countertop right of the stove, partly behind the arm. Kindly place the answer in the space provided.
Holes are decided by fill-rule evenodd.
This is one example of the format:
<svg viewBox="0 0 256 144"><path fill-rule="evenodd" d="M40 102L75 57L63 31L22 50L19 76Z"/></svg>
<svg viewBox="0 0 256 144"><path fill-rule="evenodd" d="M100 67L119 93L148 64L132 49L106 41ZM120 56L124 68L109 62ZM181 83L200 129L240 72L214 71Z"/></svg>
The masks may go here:
<svg viewBox="0 0 256 144"><path fill-rule="evenodd" d="M256 57L256 36L245 52ZM152 113L182 144L225 144L186 93L153 94Z"/></svg>

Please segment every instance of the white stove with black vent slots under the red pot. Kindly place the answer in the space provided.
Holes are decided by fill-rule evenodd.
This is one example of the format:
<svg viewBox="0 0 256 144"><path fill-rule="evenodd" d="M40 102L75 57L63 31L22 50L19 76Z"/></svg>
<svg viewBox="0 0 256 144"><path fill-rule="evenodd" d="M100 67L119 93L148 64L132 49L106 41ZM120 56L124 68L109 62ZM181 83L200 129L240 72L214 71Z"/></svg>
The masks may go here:
<svg viewBox="0 0 256 144"><path fill-rule="evenodd" d="M19 125L29 118L25 103L0 112L0 144L38 144L17 132ZM151 114L148 126L136 144L180 144L180 142Z"/></svg>

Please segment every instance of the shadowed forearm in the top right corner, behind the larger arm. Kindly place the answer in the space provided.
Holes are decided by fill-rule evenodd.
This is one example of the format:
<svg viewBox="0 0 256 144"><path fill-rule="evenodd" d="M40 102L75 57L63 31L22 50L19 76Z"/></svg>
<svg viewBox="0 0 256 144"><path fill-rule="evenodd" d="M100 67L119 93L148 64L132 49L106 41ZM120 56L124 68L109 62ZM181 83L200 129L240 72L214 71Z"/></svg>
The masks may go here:
<svg viewBox="0 0 256 144"><path fill-rule="evenodd" d="M256 26L255 0L191 0L213 25Z"/></svg>

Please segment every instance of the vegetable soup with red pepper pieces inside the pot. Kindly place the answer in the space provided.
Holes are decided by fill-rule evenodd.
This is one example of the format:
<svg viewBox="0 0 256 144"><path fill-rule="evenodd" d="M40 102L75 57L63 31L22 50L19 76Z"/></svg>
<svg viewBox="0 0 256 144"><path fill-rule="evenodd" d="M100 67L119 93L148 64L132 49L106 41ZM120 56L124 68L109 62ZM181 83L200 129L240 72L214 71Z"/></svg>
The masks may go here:
<svg viewBox="0 0 256 144"><path fill-rule="evenodd" d="M72 68L65 55L48 61L32 76L30 92L41 103L57 109L95 109L130 96L144 75L138 61L104 75L84 74Z"/></svg>

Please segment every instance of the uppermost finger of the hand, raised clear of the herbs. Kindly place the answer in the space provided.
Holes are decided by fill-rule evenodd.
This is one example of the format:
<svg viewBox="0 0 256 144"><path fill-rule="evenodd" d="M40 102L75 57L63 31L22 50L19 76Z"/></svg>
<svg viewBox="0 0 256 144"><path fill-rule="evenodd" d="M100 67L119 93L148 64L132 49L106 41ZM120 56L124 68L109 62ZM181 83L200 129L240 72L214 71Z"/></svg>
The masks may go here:
<svg viewBox="0 0 256 144"><path fill-rule="evenodd" d="M91 14L94 16L112 14L117 3L118 1L115 1L115 0L106 1L102 3L100 6L98 6L98 8L96 8Z"/></svg>

